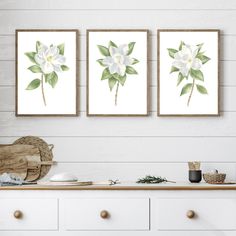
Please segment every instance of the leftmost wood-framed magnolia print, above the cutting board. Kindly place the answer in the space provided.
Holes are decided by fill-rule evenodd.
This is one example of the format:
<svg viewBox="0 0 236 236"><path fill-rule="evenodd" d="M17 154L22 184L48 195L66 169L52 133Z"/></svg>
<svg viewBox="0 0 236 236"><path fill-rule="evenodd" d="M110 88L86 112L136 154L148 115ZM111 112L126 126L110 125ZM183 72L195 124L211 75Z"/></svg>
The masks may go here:
<svg viewBox="0 0 236 236"><path fill-rule="evenodd" d="M16 30L16 116L78 115L78 30Z"/></svg>

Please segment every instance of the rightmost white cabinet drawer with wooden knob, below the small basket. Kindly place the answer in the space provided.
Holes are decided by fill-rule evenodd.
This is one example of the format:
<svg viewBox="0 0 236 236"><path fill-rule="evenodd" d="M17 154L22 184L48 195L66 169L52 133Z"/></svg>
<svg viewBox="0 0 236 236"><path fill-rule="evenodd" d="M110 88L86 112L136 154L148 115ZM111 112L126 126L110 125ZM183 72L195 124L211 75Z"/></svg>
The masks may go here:
<svg viewBox="0 0 236 236"><path fill-rule="evenodd" d="M159 230L235 230L236 199L159 199Z"/></svg>

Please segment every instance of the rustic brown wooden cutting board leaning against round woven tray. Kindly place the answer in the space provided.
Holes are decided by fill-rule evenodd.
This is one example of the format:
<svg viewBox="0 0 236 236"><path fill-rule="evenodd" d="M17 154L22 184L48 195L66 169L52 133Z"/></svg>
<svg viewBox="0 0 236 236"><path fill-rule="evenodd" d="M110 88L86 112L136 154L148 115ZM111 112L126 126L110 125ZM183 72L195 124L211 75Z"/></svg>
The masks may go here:
<svg viewBox="0 0 236 236"><path fill-rule="evenodd" d="M34 181L40 176L40 162L39 149L33 145L0 145L0 173L13 173Z"/></svg>

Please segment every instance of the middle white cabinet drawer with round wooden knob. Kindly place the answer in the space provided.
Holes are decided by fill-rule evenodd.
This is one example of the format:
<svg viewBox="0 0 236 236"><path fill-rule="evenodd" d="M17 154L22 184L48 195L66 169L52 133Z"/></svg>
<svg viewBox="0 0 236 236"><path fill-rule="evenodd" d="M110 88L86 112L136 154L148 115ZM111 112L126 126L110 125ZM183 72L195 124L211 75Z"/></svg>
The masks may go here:
<svg viewBox="0 0 236 236"><path fill-rule="evenodd" d="M66 199L67 230L148 230L149 199Z"/></svg>

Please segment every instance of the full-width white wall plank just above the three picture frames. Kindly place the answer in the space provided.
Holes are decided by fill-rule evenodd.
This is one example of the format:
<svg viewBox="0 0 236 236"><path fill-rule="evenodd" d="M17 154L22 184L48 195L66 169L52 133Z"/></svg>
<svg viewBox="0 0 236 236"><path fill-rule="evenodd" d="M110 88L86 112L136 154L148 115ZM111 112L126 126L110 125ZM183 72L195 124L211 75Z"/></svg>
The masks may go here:
<svg viewBox="0 0 236 236"><path fill-rule="evenodd" d="M225 34L236 34L235 21L232 10L57 10L50 14L39 10L6 10L0 14L0 34L13 34L20 28L76 28L83 34L89 28L147 28L153 32L157 28L218 28Z"/></svg>

